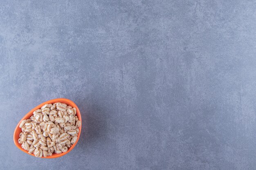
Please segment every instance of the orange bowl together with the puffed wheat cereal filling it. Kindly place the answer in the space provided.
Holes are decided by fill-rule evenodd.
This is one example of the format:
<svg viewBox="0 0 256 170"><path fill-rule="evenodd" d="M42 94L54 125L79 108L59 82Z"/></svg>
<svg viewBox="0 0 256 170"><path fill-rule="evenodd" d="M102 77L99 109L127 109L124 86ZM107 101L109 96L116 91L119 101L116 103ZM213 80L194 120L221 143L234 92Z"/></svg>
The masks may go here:
<svg viewBox="0 0 256 170"><path fill-rule="evenodd" d="M81 134L81 114L69 99L53 99L32 109L17 125L13 140L20 150L42 158L70 152Z"/></svg>

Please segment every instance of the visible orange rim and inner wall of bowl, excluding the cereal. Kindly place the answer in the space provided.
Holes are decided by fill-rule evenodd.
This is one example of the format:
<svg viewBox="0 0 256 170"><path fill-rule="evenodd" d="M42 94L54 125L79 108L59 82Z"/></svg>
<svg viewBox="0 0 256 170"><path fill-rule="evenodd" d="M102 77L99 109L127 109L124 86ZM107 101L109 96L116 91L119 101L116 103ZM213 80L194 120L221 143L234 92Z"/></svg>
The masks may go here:
<svg viewBox="0 0 256 170"><path fill-rule="evenodd" d="M29 152L25 149L23 149L21 147L21 144L18 143L18 139L20 138L19 135L20 135L20 132L21 131L21 128L19 127L20 125L20 122L24 119L29 119L29 117L31 117L33 115L33 112L37 109L40 109L43 105L45 104L54 104L56 102L61 102L61 103L65 103L67 105L70 105L72 106L73 108L76 108L76 116L78 117L78 119L81 121L82 123L82 118L81 118L81 114L80 114L80 111L79 111L79 108L76 106L76 104L74 102L72 102L71 100L69 99L65 99L65 98L59 98L59 99L52 99L52 100L48 100L47 102L44 102L38 106L36 106L35 108L33 108L32 110L29 111L29 113L27 113L24 117L22 117L22 119L19 121L19 123L17 124L15 130L14 130L14 133L13 133L13 141L14 141L14 144L20 149L22 150L23 152L29 154ZM61 154L56 154L56 153L52 153L52 156L47 156L47 157L41 157L41 158L57 158L57 157L62 157L63 155L66 155L68 152L70 152L77 144L78 140L79 140L79 137L80 137L80 134L81 134L81 128L82 126L79 127L79 133L78 133L78 136L77 136L77 140L76 140L76 143L74 143L70 148L68 148L67 152L62 152ZM32 153L32 154L29 154L29 155L32 155L35 157L35 155Z"/></svg>

